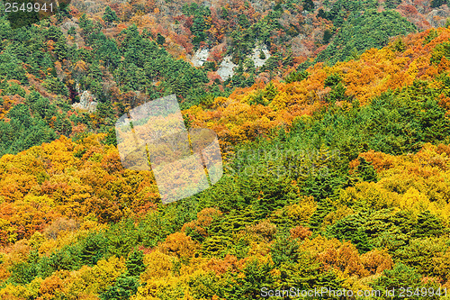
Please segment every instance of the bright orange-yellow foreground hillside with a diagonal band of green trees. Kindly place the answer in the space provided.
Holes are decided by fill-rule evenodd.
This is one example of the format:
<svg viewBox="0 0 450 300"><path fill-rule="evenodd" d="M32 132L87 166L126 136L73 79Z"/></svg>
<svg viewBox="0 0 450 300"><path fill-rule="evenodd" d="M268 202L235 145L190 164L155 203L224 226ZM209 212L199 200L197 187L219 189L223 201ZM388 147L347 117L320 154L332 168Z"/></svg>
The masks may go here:
<svg viewBox="0 0 450 300"><path fill-rule="evenodd" d="M170 205L151 172L121 168L109 133L4 155L2 299L240 300L264 286L446 299L449 38L412 33L189 105L186 124L218 133L226 171ZM121 39L164 51L134 27Z"/></svg>

